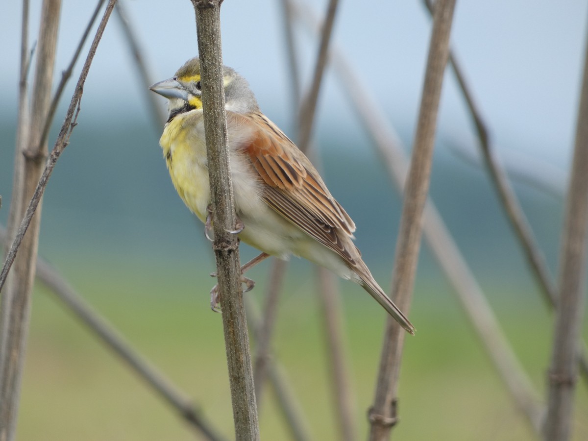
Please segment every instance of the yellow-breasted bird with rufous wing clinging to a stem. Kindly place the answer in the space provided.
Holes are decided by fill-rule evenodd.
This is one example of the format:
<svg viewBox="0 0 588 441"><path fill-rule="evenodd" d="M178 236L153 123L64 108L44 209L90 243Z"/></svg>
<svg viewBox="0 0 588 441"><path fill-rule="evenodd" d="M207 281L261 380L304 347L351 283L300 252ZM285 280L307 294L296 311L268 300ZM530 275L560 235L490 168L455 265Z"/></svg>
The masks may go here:
<svg viewBox="0 0 588 441"><path fill-rule="evenodd" d="M328 268L358 283L404 329L415 327L380 288L353 243L355 223L333 198L316 168L278 126L265 116L234 69L223 66L227 143L239 240L262 253L242 272L275 256L290 255ZM149 89L168 100L168 121L159 145L180 198L213 228L202 111L201 68L189 59L169 79ZM252 288L253 282L243 278ZM213 289L214 290L214 289ZM218 298L213 295L212 307Z"/></svg>

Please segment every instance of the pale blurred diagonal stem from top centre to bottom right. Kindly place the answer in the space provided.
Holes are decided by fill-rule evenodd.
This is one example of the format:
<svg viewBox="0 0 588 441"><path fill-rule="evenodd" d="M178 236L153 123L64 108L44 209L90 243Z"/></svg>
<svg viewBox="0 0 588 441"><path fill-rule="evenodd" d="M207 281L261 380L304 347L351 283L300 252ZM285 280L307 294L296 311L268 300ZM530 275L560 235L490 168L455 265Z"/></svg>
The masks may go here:
<svg viewBox="0 0 588 441"><path fill-rule="evenodd" d="M287 1L295 16L305 21L314 32L318 32L318 19L311 15L312 11L295 5L292 0ZM352 64L346 61L343 51L331 48L329 58L340 82L343 85L355 85L356 93L346 96L352 102L352 108L366 131L372 136L377 153L382 157L390 177L402 192L409 164L402 141L383 116L384 112L370 96L368 89L362 85L361 77L353 72ZM510 348L482 289L432 202L427 202L423 218L423 232L440 268L455 288L473 328L517 406L527 416L536 433L539 433L543 415L539 394L533 389L529 377Z"/></svg>

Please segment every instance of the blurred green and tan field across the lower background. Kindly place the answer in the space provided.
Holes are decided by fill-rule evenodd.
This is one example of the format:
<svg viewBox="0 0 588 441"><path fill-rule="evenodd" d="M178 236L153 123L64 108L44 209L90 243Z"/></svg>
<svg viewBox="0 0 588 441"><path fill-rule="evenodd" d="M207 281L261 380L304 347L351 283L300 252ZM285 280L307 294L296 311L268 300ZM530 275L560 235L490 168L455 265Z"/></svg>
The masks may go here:
<svg viewBox="0 0 588 441"><path fill-rule="evenodd" d="M232 439L222 322L208 307L212 262L94 259L66 266L72 284ZM252 272L258 283L248 293L258 301L269 264L260 267ZM293 263L273 346L313 439L336 440L314 275L310 265ZM376 277L387 283L386 274ZM358 439L365 439L385 316L358 286L340 282L340 288ZM524 368L544 393L552 320L529 293L489 297ZM406 343L395 438L533 439L447 286L417 283L410 316L418 332ZM588 439L588 396L584 383L579 385L574 439L582 440ZM20 412L22 440L199 439L41 285L35 289ZM270 387L261 403L260 430L262 439L290 439Z"/></svg>

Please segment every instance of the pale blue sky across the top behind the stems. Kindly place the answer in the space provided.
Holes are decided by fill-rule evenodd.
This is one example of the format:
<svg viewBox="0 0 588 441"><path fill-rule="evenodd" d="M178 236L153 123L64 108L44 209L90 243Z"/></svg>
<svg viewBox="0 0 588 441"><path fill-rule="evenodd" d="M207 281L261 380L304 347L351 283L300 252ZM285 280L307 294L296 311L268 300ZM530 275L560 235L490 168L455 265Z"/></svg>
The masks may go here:
<svg viewBox="0 0 588 441"><path fill-rule="evenodd" d="M94 4L63 1L56 77L68 64ZM155 80L168 78L196 55L191 2L127 0L125 4ZM314 11L323 11L326 2L307 4ZM31 1L31 42L38 29L40 9L40 0ZM16 112L20 16L18 2L3 6L2 118ZM515 152L566 166L573 144L587 16L586 1L457 2L453 48L505 155ZM336 19L335 44L346 52L393 125L409 136L414 132L420 100L429 24L420 1L341 2ZM279 2L226 0L222 25L225 64L248 78L270 118L288 121L289 76ZM303 27L299 26L297 35L304 78L308 80L316 43ZM446 80L439 133L469 145L473 143L469 118L452 77ZM353 85L341 91L334 76L328 75L324 92L319 133L332 126L359 131L343 98L345 93L353 93ZM144 116L141 93L113 16L88 78L82 113L112 115L115 119L131 112ZM68 101L66 94L64 102ZM58 115L57 120L61 118Z"/></svg>

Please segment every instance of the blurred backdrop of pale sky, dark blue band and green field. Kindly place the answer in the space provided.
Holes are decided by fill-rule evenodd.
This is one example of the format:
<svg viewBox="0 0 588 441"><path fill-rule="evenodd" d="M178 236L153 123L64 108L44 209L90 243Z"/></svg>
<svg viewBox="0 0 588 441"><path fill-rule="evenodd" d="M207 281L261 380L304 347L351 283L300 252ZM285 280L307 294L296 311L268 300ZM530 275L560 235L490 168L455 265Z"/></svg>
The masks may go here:
<svg viewBox="0 0 588 441"><path fill-rule="evenodd" d="M153 82L197 55L187 0L129 0ZM342 49L406 146L412 144L429 41L421 2L342 2L333 44ZM94 4L64 0L55 79L69 63ZM553 275L567 169L573 148L586 35L586 1L457 2L452 46L489 125L497 154ZM326 2L308 2L323 14ZM29 41L41 1L31 1ZM222 8L223 59L245 76L261 108L294 137L294 102L279 2L231 2ZM0 223L12 186L21 6L0 16ZM318 43L296 29L304 84ZM86 48L87 50L87 48ZM45 193L39 254L232 436L220 315L210 312L215 281L203 226L176 195L150 119L145 88L113 15L94 59L71 143ZM83 55L85 56L85 55ZM83 62L83 58L82 58ZM74 71L49 146L61 127L79 75ZM33 71L33 70L31 70ZM315 124L314 161L335 198L358 225L357 245L385 288L393 265L401 201L344 87L328 71ZM161 99L161 106L164 106ZM163 123L163 122L162 122ZM408 152L408 148L406 148ZM446 75L430 194L495 307L537 389L549 365L552 315L506 222L455 79ZM241 247L242 260L254 251ZM252 271L261 303L269 263ZM336 439L330 405L315 270L292 260L280 304L276 359L285 366L316 439ZM358 286L340 282L356 396L358 434L366 433L385 316ZM505 387L426 245L410 318L400 383L400 439L532 439ZM588 337L584 326L584 338ZM577 415L587 415L579 383ZM262 436L288 439L270 403L260 410ZM20 439L194 439L193 433L113 359L41 285L35 290L19 419ZM577 418L577 439L588 437Z"/></svg>

